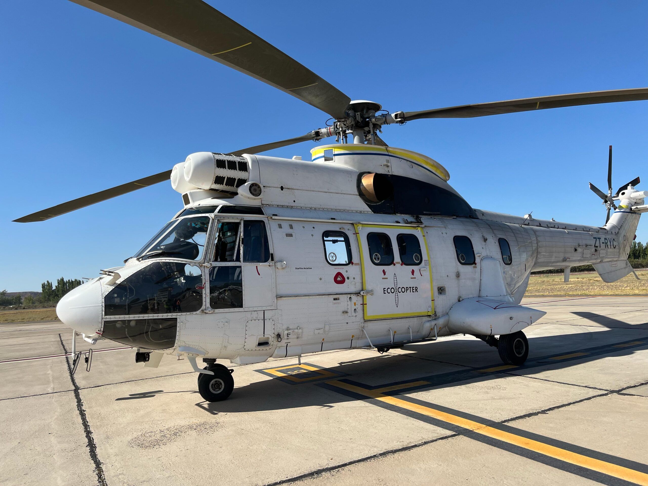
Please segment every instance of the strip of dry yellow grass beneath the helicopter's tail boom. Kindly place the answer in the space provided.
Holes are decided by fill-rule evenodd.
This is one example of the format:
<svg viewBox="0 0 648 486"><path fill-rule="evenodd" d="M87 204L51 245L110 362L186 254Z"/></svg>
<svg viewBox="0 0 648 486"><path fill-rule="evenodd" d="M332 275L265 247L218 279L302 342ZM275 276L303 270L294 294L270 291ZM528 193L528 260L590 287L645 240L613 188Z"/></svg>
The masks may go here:
<svg viewBox="0 0 648 486"><path fill-rule="evenodd" d="M562 273L531 275L527 297L545 295L648 295L648 270L638 270L641 280L632 273L614 283L605 283L597 273L572 273L564 283Z"/></svg>

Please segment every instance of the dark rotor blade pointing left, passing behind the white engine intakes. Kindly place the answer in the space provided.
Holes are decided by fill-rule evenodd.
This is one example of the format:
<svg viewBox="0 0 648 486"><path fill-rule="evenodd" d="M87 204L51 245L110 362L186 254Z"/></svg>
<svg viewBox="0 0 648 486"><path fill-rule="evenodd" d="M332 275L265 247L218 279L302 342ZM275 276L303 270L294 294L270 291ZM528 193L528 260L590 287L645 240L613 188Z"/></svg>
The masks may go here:
<svg viewBox="0 0 648 486"><path fill-rule="evenodd" d="M266 150L272 150L273 148L284 147L288 145L293 145L295 143L300 143L307 140L319 140L322 138L330 137L334 133L332 128L320 128L319 130L313 130L308 132L305 135L299 137L294 137L292 139L281 140L279 142L266 143L264 145L256 145L253 147L244 148L242 150L235 150L235 152L230 152L234 155L241 154L258 154L259 152L265 152ZM45 221L49 218L54 218L54 216L60 216L61 214L70 213L71 211L76 211L76 209L81 209L98 202L106 201L122 194L127 194L128 192L137 191L137 189L142 189L143 187L148 187L163 181L168 181L171 176L170 170L165 170L165 172L160 172L153 176L148 176L142 179L137 179L136 181L128 182L126 184L118 185L117 187L111 187L105 191L95 192L94 194L89 194L81 198L77 198L56 206L43 209L42 211L37 211L36 213L28 214L22 218L14 220L16 223L32 223L36 221Z"/></svg>

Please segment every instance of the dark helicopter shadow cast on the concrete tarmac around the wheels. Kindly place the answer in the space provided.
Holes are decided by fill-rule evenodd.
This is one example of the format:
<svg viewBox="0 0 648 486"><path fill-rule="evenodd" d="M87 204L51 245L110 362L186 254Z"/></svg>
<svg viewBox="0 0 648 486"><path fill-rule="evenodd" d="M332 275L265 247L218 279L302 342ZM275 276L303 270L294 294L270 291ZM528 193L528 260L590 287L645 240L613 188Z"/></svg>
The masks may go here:
<svg viewBox="0 0 648 486"><path fill-rule="evenodd" d="M460 386L468 380L498 380L512 376L509 371L515 371L515 375L519 376L531 376L547 369L565 369L612 355L629 356L635 351L648 348L648 323L630 325L592 312L573 314L593 321L598 327L607 330L531 337L529 359L526 364L516 367L515 370L502 370L496 349L477 339L439 340L434 343L409 345L403 348L407 353L376 354L359 360L340 362L338 366L328 367L326 370L346 375L334 379L369 389L423 378L430 382L430 385L424 388L439 389ZM641 332L642 330L645 332ZM380 380L381 376L384 377L383 380ZM232 396L224 402L198 402L196 406L216 415L313 406L334 408L340 402L355 400L338 393L330 393L321 386L313 386L326 381L328 380L294 386L282 383L277 378L259 380L235 388Z"/></svg>

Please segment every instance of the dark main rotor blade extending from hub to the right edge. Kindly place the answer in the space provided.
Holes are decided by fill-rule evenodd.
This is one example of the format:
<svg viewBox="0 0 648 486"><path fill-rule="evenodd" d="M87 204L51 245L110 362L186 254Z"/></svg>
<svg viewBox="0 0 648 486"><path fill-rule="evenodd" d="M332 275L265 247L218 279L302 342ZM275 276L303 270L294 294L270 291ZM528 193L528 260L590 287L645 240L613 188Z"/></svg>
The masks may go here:
<svg viewBox="0 0 648 486"><path fill-rule="evenodd" d="M648 100L648 87L465 104L462 106L450 106L449 108L435 108L434 110L406 111L394 115L397 121L411 121L421 118L472 118L517 113L518 111L547 110L548 108L564 108L566 106L638 100Z"/></svg>

